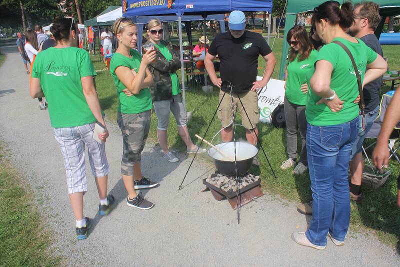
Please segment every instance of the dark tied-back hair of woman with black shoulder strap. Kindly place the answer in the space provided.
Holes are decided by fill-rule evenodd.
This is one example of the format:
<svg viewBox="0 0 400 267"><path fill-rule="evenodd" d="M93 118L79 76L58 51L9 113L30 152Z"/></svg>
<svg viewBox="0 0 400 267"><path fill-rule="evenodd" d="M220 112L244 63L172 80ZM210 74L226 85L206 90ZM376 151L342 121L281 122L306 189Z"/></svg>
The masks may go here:
<svg viewBox="0 0 400 267"><path fill-rule="evenodd" d="M331 25L339 25L342 29L348 28L353 23L353 10L351 1L339 4L337 1L326 1L314 8L311 24L315 26L321 19Z"/></svg>

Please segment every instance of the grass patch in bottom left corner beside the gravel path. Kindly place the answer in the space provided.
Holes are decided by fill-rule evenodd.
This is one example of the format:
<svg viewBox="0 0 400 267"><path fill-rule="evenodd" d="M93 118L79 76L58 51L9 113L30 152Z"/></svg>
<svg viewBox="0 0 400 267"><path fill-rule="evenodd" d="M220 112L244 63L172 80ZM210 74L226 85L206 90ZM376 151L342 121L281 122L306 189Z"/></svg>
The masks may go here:
<svg viewBox="0 0 400 267"><path fill-rule="evenodd" d="M4 156L0 144L0 266L55 266L60 258L49 248L34 195Z"/></svg>

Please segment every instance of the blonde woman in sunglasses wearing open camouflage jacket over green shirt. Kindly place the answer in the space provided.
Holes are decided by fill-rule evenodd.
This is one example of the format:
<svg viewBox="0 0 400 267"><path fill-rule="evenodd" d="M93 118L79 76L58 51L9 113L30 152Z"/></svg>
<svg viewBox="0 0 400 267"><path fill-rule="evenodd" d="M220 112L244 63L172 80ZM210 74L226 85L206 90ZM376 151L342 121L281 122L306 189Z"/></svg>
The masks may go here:
<svg viewBox="0 0 400 267"><path fill-rule="evenodd" d="M180 68L180 60L173 54L172 48L162 38L162 24L157 18L151 19L147 24L147 34L155 49L155 61L148 66L153 76L154 83L150 85L155 113L158 118L157 137L162 148L163 157L169 162L179 159L168 149L167 128L169 112L176 119L178 133L186 144L186 153L194 153L197 145L193 144L187 130L186 112L182 103L180 86L176 70ZM198 152L205 152L199 148Z"/></svg>

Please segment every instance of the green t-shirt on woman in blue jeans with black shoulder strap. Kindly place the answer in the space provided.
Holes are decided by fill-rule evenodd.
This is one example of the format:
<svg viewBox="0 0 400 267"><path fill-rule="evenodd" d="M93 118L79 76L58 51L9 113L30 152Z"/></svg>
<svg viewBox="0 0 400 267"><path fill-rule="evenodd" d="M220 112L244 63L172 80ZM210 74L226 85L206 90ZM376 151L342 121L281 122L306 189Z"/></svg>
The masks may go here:
<svg viewBox="0 0 400 267"><path fill-rule="evenodd" d="M358 43L350 42L344 38L335 38L333 40L341 41L350 50L362 81L366 65L373 62L377 54L360 39L357 39ZM359 113L358 104L353 102L359 92L350 57L338 44L331 42L323 45L319 50L316 57L316 61L318 60L327 60L332 64L333 71L330 78L330 88L336 92L337 97L344 103L340 111L332 112L324 103L317 105L316 102L321 97L308 90L305 108L305 117L308 123L316 126L325 126L350 121ZM314 69L311 69L307 73L307 80L311 78L313 72Z"/></svg>

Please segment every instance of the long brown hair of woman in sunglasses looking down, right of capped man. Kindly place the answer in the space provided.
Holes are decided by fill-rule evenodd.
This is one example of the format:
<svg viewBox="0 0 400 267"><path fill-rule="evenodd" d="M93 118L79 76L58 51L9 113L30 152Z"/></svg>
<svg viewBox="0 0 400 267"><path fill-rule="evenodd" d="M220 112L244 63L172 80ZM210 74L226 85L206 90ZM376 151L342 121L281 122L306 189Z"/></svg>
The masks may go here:
<svg viewBox="0 0 400 267"><path fill-rule="evenodd" d="M293 61L297 54L298 60L302 61L309 56L312 50L312 43L310 42L307 31L303 26L294 26L287 32L286 41L290 43L291 37L294 37L298 41L298 50L294 50L290 48L288 59L289 61Z"/></svg>

